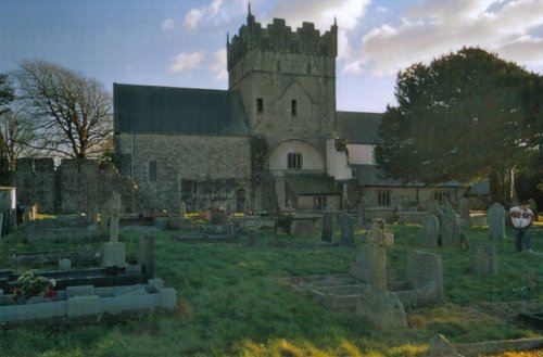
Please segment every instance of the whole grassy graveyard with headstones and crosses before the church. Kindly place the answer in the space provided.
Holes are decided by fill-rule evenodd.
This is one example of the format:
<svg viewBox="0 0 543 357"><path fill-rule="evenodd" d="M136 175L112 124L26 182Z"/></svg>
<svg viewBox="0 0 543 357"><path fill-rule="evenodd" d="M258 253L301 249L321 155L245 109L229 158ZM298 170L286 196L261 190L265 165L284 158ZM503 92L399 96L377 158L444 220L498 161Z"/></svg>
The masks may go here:
<svg viewBox="0 0 543 357"><path fill-rule="evenodd" d="M114 227L90 215L1 238L0 356L543 353L530 320L543 311L540 222L535 253L517 253L492 212L467 224L447 206L366 224L299 214L289 229L257 215ZM53 299L12 302L9 288L28 271L55 279Z"/></svg>

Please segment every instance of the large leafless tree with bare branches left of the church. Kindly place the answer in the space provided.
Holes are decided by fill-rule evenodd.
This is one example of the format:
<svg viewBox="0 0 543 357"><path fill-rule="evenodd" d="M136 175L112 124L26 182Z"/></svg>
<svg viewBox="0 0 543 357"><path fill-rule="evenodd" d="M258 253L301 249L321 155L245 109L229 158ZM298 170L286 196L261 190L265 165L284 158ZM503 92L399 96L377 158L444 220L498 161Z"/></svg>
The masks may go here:
<svg viewBox="0 0 543 357"><path fill-rule="evenodd" d="M48 62L24 62L15 73L20 99L38 135L31 146L86 158L112 133L111 95L94 79Z"/></svg>

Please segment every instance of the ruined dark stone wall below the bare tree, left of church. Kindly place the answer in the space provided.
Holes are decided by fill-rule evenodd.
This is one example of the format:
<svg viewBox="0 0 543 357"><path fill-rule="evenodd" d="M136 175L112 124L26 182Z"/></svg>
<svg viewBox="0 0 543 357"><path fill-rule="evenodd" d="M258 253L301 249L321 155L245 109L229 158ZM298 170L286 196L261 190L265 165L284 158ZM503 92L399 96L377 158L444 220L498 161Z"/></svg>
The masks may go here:
<svg viewBox="0 0 543 357"><path fill-rule="evenodd" d="M88 213L102 205L116 191L125 212L138 212L134 182L110 164L93 160L62 160L54 167L52 158L20 158L11 186L17 189L17 203L38 204L45 214Z"/></svg>

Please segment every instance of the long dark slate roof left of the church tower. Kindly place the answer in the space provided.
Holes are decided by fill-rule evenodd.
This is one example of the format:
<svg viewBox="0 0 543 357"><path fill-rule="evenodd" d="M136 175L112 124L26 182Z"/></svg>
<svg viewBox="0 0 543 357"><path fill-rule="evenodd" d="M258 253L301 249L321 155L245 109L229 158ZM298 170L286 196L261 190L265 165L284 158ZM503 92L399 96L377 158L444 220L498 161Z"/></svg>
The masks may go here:
<svg viewBox="0 0 543 357"><path fill-rule="evenodd" d="M233 91L113 85L116 132L249 135Z"/></svg>

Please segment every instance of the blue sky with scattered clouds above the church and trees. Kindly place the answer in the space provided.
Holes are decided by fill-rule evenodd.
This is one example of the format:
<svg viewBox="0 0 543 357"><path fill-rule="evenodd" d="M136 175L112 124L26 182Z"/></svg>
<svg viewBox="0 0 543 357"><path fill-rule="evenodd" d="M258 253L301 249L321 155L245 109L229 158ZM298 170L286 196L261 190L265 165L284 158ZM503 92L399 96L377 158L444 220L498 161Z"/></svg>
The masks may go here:
<svg viewBox="0 0 543 357"><path fill-rule="evenodd" d="M543 74L543 0L252 0L264 26L339 27L337 109L384 112L399 71L478 47ZM227 89L248 0L1 0L0 73L48 61L113 82Z"/></svg>

